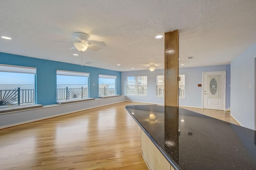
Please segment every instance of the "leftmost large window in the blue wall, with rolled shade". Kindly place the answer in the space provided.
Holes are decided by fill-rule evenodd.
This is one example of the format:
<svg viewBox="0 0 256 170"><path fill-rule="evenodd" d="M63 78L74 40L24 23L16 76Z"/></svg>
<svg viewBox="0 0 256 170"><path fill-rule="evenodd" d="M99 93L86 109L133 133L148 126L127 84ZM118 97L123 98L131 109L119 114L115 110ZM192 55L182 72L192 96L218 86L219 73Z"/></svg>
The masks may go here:
<svg viewBox="0 0 256 170"><path fill-rule="evenodd" d="M0 64L0 108L35 104L36 68Z"/></svg>

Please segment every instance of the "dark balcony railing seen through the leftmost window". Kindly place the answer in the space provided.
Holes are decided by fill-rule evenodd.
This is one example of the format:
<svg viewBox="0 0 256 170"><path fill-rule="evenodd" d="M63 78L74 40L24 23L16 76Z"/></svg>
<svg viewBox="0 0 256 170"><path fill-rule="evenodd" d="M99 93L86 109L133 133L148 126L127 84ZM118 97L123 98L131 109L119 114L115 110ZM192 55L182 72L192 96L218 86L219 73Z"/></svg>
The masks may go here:
<svg viewBox="0 0 256 170"><path fill-rule="evenodd" d="M34 103L34 89L0 90L0 106Z"/></svg>

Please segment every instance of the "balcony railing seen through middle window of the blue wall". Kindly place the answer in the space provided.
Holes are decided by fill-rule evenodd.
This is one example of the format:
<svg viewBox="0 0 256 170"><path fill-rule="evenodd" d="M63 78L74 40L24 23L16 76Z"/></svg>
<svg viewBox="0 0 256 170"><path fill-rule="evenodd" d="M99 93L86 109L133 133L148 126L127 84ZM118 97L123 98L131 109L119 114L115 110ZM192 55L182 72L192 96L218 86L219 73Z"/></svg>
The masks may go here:
<svg viewBox="0 0 256 170"><path fill-rule="evenodd" d="M88 98L88 88L57 88L57 100Z"/></svg>

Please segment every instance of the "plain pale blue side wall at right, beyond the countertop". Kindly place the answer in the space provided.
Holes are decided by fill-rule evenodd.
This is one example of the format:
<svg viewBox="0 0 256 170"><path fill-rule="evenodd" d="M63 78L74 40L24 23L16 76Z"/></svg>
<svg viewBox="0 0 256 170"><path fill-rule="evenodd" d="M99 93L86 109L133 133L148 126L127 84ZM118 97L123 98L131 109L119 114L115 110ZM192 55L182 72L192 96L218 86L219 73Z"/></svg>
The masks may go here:
<svg viewBox="0 0 256 170"><path fill-rule="evenodd" d="M256 43L231 61L231 115L243 126L256 129ZM251 88L249 88L251 84Z"/></svg>

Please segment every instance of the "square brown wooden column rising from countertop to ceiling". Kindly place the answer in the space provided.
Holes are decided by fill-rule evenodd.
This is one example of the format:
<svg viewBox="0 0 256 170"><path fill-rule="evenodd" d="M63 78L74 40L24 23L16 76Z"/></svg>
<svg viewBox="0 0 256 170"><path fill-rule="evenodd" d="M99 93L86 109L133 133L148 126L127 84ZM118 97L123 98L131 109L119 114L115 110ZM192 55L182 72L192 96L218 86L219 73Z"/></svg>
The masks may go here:
<svg viewBox="0 0 256 170"><path fill-rule="evenodd" d="M164 105L178 107L179 33L164 33Z"/></svg>

